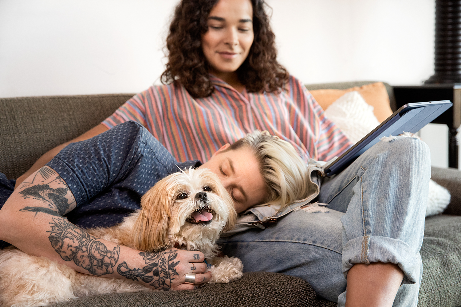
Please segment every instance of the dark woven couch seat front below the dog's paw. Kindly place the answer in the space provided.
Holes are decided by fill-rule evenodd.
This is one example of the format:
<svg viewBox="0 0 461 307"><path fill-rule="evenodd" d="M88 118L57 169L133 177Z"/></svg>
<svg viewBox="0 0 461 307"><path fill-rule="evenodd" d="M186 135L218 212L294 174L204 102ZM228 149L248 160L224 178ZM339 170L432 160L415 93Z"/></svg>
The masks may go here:
<svg viewBox="0 0 461 307"><path fill-rule="evenodd" d="M301 278L278 273L245 273L230 284L207 284L194 291L155 291L84 297L53 307L236 307L236 306L336 306L318 301L315 292Z"/></svg>

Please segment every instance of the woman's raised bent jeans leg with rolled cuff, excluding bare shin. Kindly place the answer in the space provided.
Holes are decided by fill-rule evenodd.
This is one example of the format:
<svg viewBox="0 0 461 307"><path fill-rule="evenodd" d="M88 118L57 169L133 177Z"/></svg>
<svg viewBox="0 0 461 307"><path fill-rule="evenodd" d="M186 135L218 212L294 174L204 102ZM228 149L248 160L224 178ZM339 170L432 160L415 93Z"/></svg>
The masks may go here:
<svg viewBox="0 0 461 307"><path fill-rule="evenodd" d="M397 264L404 278L394 306L416 306L419 254L431 172L429 150L415 138L378 142L322 185L319 201L344 211L343 272L356 263ZM355 174L355 176L354 176ZM345 303L346 293L338 305Z"/></svg>

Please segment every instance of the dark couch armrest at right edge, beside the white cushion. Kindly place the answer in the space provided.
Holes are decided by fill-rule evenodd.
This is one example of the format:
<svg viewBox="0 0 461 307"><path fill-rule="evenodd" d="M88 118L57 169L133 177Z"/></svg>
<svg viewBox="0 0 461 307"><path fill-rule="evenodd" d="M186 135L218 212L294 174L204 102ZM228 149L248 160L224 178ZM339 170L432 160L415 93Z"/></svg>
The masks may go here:
<svg viewBox="0 0 461 307"><path fill-rule="evenodd" d="M432 180L445 187L451 200L444 214L461 215L461 171L456 168L432 167Z"/></svg>

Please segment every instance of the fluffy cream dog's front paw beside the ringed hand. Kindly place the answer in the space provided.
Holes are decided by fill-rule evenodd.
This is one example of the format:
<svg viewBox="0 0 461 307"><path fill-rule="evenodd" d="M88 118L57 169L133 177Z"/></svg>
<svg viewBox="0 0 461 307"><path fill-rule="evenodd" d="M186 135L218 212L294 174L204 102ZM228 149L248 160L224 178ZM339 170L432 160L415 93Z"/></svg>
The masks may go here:
<svg viewBox="0 0 461 307"><path fill-rule="evenodd" d="M216 257L211 266L211 284L227 284L243 276L242 261L236 257Z"/></svg>

